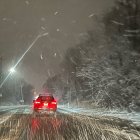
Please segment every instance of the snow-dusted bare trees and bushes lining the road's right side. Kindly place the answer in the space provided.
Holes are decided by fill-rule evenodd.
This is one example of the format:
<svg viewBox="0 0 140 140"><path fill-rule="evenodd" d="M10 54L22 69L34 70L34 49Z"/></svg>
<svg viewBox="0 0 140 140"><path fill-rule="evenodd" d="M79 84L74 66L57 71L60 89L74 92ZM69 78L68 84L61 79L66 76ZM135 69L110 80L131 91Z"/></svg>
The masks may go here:
<svg viewBox="0 0 140 140"><path fill-rule="evenodd" d="M67 50L61 67L43 85L61 101L140 110L140 1L116 0L94 16L93 30Z"/></svg>

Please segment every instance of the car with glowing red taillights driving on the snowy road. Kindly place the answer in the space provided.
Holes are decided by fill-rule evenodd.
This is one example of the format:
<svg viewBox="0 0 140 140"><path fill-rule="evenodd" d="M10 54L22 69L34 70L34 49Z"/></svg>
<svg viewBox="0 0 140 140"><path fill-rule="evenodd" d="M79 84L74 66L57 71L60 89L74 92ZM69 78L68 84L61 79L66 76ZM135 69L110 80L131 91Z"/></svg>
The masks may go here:
<svg viewBox="0 0 140 140"><path fill-rule="evenodd" d="M33 100L34 113L55 113L57 102L52 95L40 94L36 100Z"/></svg>

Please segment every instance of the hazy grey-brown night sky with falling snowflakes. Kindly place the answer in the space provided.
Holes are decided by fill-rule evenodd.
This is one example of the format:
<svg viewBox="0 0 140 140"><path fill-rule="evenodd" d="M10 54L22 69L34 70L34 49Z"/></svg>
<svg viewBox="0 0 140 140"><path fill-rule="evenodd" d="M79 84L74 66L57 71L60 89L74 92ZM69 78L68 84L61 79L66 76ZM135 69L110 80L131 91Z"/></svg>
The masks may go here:
<svg viewBox="0 0 140 140"><path fill-rule="evenodd" d="M0 0L0 55L4 71L16 63L39 33L48 32L25 56L16 73L40 89L49 75L59 73L66 49L94 28L92 16L101 15L113 1Z"/></svg>

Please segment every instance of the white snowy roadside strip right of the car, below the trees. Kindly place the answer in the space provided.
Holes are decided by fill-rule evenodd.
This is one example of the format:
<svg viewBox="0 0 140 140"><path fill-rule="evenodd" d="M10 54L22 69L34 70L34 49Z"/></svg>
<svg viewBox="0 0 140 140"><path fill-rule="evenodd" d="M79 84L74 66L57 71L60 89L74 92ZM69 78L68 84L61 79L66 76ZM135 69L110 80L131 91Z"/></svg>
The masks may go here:
<svg viewBox="0 0 140 140"><path fill-rule="evenodd" d="M113 116L121 119L132 121L137 126L140 126L140 112L127 112L120 110L107 110L107 109L85 109L76 108L67 105L59 105L58 108L62 109L65 113L79 113L88 116Z"/></svg>

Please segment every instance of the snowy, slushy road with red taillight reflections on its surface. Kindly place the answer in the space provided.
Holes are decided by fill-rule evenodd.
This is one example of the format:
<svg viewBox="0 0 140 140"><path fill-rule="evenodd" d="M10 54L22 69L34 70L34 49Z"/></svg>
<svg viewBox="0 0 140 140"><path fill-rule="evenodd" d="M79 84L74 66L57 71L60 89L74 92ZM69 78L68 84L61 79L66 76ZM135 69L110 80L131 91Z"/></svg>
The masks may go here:
<svg viewBox="0 0 140 140"><path fill-rule="evenodd" d="M0 140L139 140L138 127L124 121L126 112L58 106L56 116L32 114L32 106L0 107ZM108 117L115 116L115 117ZM126 116L126 119L127 119ZM133 118L134 117L130 117ZM129 118L128 118L129 119ZM136 119L137 120L137 119ZM138 123L138 121L136 121Z"/></svg>

